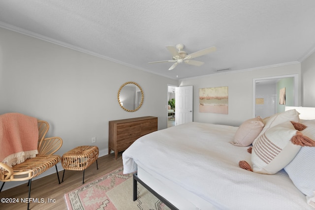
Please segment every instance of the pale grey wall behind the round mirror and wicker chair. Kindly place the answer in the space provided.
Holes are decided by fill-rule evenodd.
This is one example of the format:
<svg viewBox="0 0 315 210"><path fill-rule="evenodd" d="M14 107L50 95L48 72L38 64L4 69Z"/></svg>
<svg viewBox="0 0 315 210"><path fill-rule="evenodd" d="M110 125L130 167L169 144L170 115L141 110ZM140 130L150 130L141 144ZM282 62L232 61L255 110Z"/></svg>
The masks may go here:
<svg viewBox="0 0 315 210"><path fill-rule="evenodd" d="M144 91L136 112L126 112L117 100L129 81ZM48 121L47 136L63 139L60 155L92 145L95 136L100 155L107 154L110 120L155 116L158 129L166 128L168 84L178 81L0 28L0 114Z"/></svg>

